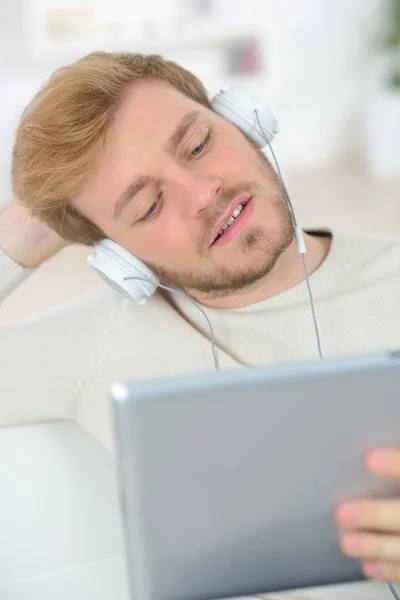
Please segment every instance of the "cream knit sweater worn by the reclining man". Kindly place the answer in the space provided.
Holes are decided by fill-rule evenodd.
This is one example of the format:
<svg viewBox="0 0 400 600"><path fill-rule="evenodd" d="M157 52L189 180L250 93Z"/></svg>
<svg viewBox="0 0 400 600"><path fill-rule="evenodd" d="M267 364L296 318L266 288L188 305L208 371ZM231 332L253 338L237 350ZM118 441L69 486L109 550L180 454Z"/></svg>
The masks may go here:
<svg viewBox="0 0 400 600"><path fill-rule="evenodd" d="M29 275L0 253L0 301ZM334 232L311 276L324 355L400 348L400 239ZM317 359L305 283L236 310L205 309L220 367ZM0 425L77 419L113 449L108 390L134 380L213 370L210 332L181 297L138 306L95 293L0 330Z"/></svg>

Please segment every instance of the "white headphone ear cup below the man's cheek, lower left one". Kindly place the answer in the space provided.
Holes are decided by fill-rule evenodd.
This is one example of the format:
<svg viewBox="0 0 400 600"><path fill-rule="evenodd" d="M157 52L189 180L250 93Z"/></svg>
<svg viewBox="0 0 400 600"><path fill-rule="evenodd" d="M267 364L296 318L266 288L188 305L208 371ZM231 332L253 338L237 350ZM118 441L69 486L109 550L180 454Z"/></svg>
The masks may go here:
<svg viewBox="0 0 400 600"><path fill-rule="evenodd" d="M99 242L88 263L108 285L138 304L144 304L160 284L153 271L112 240Z"/></svg>

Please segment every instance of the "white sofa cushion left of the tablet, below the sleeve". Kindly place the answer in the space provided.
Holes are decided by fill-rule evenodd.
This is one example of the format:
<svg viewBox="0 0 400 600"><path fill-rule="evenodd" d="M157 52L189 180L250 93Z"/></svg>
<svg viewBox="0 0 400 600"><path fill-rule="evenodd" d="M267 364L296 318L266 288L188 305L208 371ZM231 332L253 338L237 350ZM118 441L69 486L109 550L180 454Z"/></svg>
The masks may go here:
<svg viewBox="0 0 400 600"><path fill-rule="evenodd" d="M0 429L0 598L128 600L111 455L79 425Z"/></svg>

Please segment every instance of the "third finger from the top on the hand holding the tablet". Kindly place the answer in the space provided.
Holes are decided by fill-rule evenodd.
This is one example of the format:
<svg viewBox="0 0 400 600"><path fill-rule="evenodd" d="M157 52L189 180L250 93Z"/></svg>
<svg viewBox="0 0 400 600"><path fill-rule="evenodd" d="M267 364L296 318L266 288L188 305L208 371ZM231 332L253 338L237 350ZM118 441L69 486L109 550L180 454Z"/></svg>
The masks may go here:
<svg viewBox="0 0 400 600"><path fill-rule="evenodd" d="M400 536L373 533L342 533L342 551L352 558L400 563Z"/></svg>

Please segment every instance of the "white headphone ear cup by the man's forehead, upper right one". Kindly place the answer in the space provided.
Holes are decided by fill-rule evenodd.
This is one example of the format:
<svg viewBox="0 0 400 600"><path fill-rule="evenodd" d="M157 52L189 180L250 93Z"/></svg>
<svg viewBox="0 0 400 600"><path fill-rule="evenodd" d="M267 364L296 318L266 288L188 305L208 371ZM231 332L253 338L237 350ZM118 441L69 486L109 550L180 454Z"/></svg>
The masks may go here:
<svg viewBox="0 0 400 600"><path fill-rule="evenodd" d="M233 89L221 90L211 100L212 108L234 123L260 148L270 144L278 133L278 120L261 104Z"/></svg>

